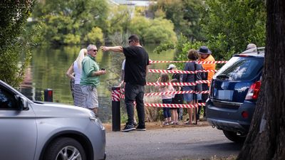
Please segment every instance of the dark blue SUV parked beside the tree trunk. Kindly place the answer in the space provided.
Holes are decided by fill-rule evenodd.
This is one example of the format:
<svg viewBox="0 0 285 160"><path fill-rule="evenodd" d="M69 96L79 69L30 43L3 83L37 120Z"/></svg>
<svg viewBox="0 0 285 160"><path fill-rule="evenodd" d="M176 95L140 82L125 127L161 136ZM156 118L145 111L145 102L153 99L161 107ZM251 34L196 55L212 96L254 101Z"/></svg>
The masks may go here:
<svg viewBox="0 0 285 160"><path fill-rule="evenodd" d="M214 75L206 102L207 121L233 142L244 142L257 104L264 48L234 55Z"/></svg>

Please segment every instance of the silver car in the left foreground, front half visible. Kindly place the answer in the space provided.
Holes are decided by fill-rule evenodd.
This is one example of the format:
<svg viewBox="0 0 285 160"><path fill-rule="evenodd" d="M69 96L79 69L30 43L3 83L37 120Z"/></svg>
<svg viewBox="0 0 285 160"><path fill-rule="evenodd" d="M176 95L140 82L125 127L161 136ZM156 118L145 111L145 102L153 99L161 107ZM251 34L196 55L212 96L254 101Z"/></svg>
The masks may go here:
<svg viewBox="0 0 285 160"><path fill-rule="evenodd" d="M105 159L105 128L90 110L32 102L0 80L0 159Z"/></svg>

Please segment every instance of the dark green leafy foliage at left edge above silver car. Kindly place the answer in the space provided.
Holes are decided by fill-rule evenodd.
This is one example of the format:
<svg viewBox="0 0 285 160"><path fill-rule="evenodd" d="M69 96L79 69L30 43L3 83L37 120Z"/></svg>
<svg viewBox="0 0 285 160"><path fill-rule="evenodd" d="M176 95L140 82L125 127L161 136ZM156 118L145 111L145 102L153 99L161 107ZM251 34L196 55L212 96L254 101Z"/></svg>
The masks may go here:
<svg viewBox="0 0 285 160"><path fill-rule="evenodd" d="M36 38L33 30L25 32L24 24L34 1L0 2L0 80L18 87L31 59L29 48ZM36 28L33 28L36 29ZM20 63L22 62L22 63Z"/></svg>

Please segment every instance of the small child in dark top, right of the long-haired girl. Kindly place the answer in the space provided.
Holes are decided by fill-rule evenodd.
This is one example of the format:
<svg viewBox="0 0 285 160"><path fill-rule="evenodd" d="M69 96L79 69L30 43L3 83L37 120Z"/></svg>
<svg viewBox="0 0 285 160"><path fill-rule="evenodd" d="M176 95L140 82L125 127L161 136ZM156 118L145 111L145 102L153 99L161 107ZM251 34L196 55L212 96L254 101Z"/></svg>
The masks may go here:
<svg viewBox="0 0 285 160"><path fill-rule="evenodd" d="M177 79L172 79L170 80L170 82L178 82ZM180 86L173 86L175 91L180 91L181 90L181 87ZM183 94L175 94L175 97L172 97L172 104L183 104ZM170 108L171 110L171 114L172 114L172 117L173 117L173 122L174 124L176 125L179 125L178 123L178 112L177 112L177 108Z"/></svg>

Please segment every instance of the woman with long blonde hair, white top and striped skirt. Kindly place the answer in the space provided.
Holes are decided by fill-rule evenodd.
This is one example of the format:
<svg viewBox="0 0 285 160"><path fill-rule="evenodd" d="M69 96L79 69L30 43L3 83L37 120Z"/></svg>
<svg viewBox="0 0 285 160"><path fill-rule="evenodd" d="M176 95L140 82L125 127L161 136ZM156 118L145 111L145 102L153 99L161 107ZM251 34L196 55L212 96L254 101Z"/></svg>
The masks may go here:
<svg viewBox="0 0 285 160"><path fill-rule="evenodd" d="M84 97L80 87L82 60L86 56L87 50L83 48L80 50L78 57L67 70L66 75L71 80L74 80L73 103L75 106L84 107Z"/></svg>

